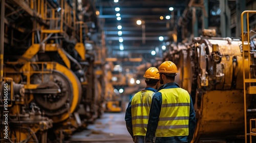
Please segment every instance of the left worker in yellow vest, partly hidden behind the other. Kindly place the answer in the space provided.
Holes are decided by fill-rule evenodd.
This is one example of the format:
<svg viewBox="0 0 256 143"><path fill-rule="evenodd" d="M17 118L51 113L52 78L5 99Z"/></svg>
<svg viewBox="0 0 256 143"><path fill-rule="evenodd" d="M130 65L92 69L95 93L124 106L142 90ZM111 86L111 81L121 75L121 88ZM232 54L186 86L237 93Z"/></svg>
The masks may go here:
<svg viewBox="0 0 256 143"><path fill-rule="evenodd" d="M156 67L148 68L143 76L146 88L137 92L127 106L125 112L126 128L134 142L145 142L148 114L150 113L152 96L157 91L159 76Z"/></svg>

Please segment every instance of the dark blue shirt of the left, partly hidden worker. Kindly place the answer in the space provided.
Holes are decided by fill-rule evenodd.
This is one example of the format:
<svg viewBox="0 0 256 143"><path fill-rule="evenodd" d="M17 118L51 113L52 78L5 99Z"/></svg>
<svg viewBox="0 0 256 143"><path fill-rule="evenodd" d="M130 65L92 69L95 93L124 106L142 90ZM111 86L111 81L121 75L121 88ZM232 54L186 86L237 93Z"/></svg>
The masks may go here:
<svg viewBox="0 0 256 143"><path fill-rule="evenodd" d="M152 87L146 87L144 90L151 90L153 92L157 92L157 90ZM133 124L132 124L132 107L131 107L132 100L133 100L133 97L127 106L124 120L126 123L127 131L131 134L132 137L134 137L133 136Z"/></svg>

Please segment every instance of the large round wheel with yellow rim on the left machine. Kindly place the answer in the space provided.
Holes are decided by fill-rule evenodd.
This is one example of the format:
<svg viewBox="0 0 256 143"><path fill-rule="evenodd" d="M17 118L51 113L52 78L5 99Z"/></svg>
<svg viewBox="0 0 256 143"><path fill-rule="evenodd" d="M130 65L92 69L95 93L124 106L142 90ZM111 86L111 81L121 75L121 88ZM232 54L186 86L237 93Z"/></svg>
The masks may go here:
<svg viewBox="0 0 256 143"><path fill-rule="evenodd" d="M61 92L55 94L46 92L33 96L45 115L49 116L54 123L58 123L66 120L79 106L81 84L73 71L65 66L58 63L54 63L54 66L52 64L47 65L48 69L52 67L54 67L52 74L33 75L32 83L39 84L38 88L60 89Z"/></svg>

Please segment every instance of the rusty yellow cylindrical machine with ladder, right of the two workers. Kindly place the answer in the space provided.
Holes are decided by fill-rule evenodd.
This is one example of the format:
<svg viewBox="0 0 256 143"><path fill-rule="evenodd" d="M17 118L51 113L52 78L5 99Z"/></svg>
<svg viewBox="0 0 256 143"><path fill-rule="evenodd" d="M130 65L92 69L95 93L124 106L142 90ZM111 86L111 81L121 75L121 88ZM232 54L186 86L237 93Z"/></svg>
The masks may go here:
<svg viewBox="0 0 256 143"><path fill-rule="evenodd" d="M249 18L251 13L243 14ZM248 21L242 40L204 30L191 43L172 46L164 57L177 64L176 82L193 98L197 126L192 142L249 142L248 135L255 142L256 33L249 31Z"/></svg>

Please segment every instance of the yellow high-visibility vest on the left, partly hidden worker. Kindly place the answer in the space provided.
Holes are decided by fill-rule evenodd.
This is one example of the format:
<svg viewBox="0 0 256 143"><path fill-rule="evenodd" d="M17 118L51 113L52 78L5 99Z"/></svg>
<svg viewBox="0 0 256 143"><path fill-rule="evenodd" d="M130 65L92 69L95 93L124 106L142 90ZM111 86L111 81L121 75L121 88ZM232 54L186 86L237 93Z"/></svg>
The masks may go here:
<svg viewBox="0 0 256 143"><path fill-rule="evenodd" d="M132 124L133 135L146 135L148 115L150 115L150 106L155 92L151 90L142 90L135 94L132 99Z"/></svg>

